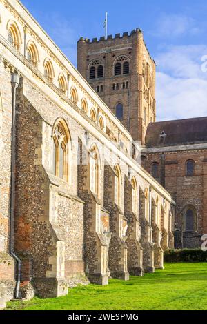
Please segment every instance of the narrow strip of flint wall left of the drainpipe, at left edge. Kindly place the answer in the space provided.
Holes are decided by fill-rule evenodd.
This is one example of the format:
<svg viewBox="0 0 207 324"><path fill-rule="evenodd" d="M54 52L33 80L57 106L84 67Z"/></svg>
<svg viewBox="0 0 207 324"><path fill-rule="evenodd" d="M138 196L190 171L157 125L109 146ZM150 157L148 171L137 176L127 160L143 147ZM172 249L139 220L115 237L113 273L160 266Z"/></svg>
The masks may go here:
<svg viewBox="0 0 207 324"><path fill-rule="evenodd" d="M13 298L14 260L10 256L10 163L12 90L10 70L0 62L0 306Z"/></svg>

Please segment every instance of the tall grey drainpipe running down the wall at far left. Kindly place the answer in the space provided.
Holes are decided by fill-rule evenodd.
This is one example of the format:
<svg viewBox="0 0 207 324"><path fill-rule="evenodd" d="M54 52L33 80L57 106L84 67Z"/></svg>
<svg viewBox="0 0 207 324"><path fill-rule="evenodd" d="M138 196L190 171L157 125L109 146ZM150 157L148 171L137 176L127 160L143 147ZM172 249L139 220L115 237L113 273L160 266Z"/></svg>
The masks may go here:
<svg viewBox="0 0 207 324"><path fill-rule="evenodd" d="M10 254L17 261L17 285L15 288L15 298L19 296L19 286L21 279L21 260L14 254L14 207L15 207L15 168L16 168L16 94L19 85L19 74L11 74L12 83L12 163L11 163L11 189L10 189Z"/></svg>

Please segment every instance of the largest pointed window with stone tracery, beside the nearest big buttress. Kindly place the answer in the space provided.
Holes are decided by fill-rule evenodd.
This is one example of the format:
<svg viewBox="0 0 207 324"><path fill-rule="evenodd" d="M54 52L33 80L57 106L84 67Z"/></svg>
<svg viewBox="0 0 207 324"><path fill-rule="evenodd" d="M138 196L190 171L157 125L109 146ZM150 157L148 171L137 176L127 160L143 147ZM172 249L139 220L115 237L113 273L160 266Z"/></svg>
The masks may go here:
<svg viewBox="0 0 207 324"><path fill-rule="evenodd" d="M53 130L53 173L61 179L68 181L69 141L70 132L65 121L60 120Z"/></svg>

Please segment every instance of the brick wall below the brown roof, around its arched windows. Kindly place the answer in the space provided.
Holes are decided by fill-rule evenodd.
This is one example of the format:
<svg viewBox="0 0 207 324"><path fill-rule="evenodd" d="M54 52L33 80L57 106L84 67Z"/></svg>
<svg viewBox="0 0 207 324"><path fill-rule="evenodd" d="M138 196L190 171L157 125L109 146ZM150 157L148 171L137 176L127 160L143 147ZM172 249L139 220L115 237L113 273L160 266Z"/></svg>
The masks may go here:
<svg viewBox="0 0 207 324"><path fill-rule="evenodd" d="M151 165L159 163L160 183L165 183L165 188L170 192L177 203L174 231L175 245L181 247L201 247L201 236L206 234L206 150L174 150L166 152L169 148L163 148L161 153L148 154L143 160L143 166L151 172ZM146 151L147 152L147 151ZM195 173L186 176L186 161L195 161ZM164 163L162 163L164 161ZM195 208L197 215L197 229L194 232L185 232L183 228L184 210L187 206ZM178 232L180 234L178 234ZM182 234L181 234L182 233Z"/></svg>

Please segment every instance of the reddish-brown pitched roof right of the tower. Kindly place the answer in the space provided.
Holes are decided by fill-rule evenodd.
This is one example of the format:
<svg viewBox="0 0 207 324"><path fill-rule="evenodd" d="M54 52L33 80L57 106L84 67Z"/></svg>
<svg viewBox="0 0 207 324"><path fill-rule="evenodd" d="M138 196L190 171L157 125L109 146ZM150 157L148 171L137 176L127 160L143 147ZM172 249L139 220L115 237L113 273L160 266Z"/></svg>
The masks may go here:
<svg viewBox="0 0 207 324"><path fill-rule="evenodd" d="M186 145L207 142L207 117L150 123L146 147Z"/></svg>

